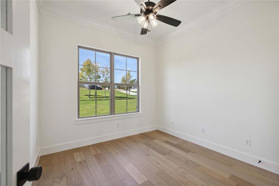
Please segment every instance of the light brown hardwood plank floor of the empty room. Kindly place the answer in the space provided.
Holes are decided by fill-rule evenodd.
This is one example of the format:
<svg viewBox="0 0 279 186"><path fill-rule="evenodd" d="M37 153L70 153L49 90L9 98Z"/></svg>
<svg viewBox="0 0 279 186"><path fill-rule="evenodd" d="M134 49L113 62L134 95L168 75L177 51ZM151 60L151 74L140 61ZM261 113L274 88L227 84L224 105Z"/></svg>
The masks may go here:
<svg viewBox="0 0 279 186"><path fill-rule="evenodd" d="M40 157L35 185L279 185L279 175L150 131Z"/></svg>

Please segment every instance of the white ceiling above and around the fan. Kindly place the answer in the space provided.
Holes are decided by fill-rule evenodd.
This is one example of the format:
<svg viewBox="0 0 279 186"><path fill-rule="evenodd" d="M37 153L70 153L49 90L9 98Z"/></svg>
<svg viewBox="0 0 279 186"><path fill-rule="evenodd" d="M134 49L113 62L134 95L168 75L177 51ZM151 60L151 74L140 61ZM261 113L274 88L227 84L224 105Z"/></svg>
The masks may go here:
<svg viewBox="0 0 279 186"><path fill-rule="evenodd" d="M157 3L159 0L154 0L153 2ZM155 29L151 28L151 32L146 35L140 35L141 25L138 24L137 20L114 21L111 19L113 16L126 15L127 11L138 14L140 7L138 7L133 0L40 0L39 8L66 15L76 20L95 24L106 29L128 34L129 36L142 40L159 43L169 35L185 28L191 21L202 17L206 13L209 14L210 11L218 9L218 7L219 9L220 7L224 7L226 3L228 3L228 1L178 0L168 7L159 10L158 14L181 20L182 23L178 27L173 27L160 22Z"/></svg>

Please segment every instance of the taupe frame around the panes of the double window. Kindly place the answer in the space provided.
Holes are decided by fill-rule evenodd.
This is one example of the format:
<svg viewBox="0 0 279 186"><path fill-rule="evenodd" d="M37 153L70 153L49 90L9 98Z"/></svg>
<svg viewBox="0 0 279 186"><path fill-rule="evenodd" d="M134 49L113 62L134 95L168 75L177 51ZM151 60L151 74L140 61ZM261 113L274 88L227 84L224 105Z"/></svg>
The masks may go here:
<svg viewBox="0 0 279 186"><path fill-rule="evenodd" d="M79 49L86 49L86 50L91 50L91 51L95 51L95 52L103 52L103 53L109 53L110 54L110 82L108 83L104 83L104 82L82 82L79 79L79 68L80 68L80 64L79 64ZM87 47L87 46L83 46L83 45L78 45L77 46L77 90L78 90L78 96L77 96L77 106L78 106L78 112L77 112L77 120L76 120L76 124L82 124L82 123L88 123L85 120L90 120L90 119L96 119L98 118L99 120L112 120L112 119L118 119L118 118L122 118L123 117L137 117L137 116L141 116L140 113L140 79L139 79L139 73L140 73L140 57L137 56L133 56L133 55L127 55L127 54L121 54L121 53L117 53L117 52L113 52L113 51L107 51L107 50L102 50L102 49L98 49L98 48L93 48L93 47ZM114 56L115 55L120 55L120 56L124 56L124 57L129 57L129 58L134 58L137 59L137 84L127 84L127 83L115 83L114 82ZM95 53L96 56L96 53ZM96 63L96 59L95 59L95 63ZM126 61L126 65L127 65L127 61ZM126 75L127 75L127 68L126 68ZM85 85L109 85L110 86L110 114L107 115L95 115L95 116L88 116L88 117L80 117L80 85L81 84L85 84ZM137 87L137 111L136 112L128 112L128 97L126 97L126 112L125 113L115 113L115 86L136 86ZM96 89L95 89L96 91ZM126 96L127 96L127 88L126 88ZM95 109L97 108L97 104L95 105ZM95 110L96 111L96 110ZM97 114L95 112L95 114ZM118 117L115 117L118 116ZM83 122L85 121L85 122ZM91 121L94 122L94 121ZM97 121L96 121L97 122Z"/></svg>

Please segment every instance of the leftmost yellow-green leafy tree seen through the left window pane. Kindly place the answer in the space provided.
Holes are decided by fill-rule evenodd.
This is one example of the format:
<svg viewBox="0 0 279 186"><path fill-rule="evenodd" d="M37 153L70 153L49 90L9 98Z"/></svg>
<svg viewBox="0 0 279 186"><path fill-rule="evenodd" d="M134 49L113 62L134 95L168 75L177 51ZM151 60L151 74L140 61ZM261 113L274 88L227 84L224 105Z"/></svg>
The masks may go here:
<svg viewBox="0 0 279 186"><path fill-rule="evenodd" d="M96 81L98 81L101 76L99 75L99 67L95 66L95 63L92 63L92 61L88 58L86 61L83 62L83 66L80 69L80 73L79 73L79 77L80 77L80 81L83 82L95 82L95 78ZM88 97L90 98L90 92L91 92L91 86L88 86L89 89L89 94ZM95 96L96 96L96 92L95 92Z"/></svg>

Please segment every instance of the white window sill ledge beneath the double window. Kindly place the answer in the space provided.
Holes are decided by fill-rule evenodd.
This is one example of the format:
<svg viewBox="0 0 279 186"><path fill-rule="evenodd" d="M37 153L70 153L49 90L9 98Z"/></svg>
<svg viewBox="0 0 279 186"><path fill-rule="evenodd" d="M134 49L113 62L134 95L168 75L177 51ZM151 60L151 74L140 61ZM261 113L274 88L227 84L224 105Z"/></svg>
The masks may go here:
<svg viewBox="0 0 279 186"><path fill-rule="evenodd" d="M142 116L141 112L79 118L79 119L76 119L76 125L85 124L85 123L102 122L102 121L108 121L108 120L124 119L124 118L130 118L130 117L140 117L140 116Z"/></svg>

